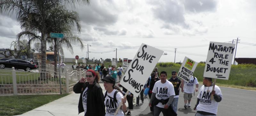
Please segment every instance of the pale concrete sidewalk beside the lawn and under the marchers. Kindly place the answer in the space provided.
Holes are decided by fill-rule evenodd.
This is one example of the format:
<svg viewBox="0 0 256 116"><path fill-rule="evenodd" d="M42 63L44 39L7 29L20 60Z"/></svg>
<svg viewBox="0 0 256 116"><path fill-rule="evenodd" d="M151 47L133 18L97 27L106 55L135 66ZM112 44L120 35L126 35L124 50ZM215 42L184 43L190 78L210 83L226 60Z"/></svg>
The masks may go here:
<svg viewBox="0 0 256 116"><path fill-rule="evenodd" d="M104 89L103 83L100 83L100 86L103 90L103 94L105 94L106 90ZM122 89L121 89L122 90ZM31 111L23 113L18 116L77 116L78 115L78 100L80 94L71 93L63 98L52 101L43 106L37 107ZM131 110L130 116L139 115L143 112L148 106L148 97L144 97L144 103L140 105L136 105L136 97L133 97L133 110ZM128 103L126 102L127 109ZM80 113L79 116L84 116L84 113Z"/></svg>

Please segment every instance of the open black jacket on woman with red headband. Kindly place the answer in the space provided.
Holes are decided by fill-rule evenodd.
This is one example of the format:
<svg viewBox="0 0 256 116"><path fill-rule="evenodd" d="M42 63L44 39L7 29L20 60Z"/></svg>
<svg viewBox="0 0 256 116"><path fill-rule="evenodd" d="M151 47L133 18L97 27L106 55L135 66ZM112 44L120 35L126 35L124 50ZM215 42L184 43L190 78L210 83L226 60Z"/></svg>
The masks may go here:
<svg viewBox="0 0 256 116"><path fill-rule="evenodd" d="M73 88L75 93L81 93L78 102L78 114L84 112L82 95L85 88L88 87L87 93L87 111L86 116L105 116L105 105L104 105L104 95L102 89L98 83L94 81L93 84L76 83Z"/></svg>

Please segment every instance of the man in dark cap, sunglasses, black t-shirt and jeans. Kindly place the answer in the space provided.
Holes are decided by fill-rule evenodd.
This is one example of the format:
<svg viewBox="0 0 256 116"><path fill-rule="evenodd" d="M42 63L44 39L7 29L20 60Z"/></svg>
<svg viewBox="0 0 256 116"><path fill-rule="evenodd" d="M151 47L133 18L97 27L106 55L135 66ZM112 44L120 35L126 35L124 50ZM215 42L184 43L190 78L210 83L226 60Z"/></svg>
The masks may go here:
<svg viewBox="0 0 256 116"><path fill-rule="evenodd" d="M180 86L181 80L177 77L177 72L172 71L172 77L168 80L172 83L175 91L175 96L172 101L172 108L174 112L177 112L177 107L178 107L178 100L179 100L179 94L180 94L180 88L183 88L183 85Z"/></svg>

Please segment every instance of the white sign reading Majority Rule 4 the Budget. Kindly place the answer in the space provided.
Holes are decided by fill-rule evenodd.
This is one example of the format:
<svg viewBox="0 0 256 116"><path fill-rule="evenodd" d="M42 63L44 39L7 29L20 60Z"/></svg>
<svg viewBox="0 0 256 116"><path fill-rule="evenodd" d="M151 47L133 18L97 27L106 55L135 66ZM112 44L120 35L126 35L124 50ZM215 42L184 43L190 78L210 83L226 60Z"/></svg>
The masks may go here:
<svg viewBox="0 0 256 116"><path fill-rule="evenodd" d="M204 77L228 80L235 44L210 42Z"/></svg>

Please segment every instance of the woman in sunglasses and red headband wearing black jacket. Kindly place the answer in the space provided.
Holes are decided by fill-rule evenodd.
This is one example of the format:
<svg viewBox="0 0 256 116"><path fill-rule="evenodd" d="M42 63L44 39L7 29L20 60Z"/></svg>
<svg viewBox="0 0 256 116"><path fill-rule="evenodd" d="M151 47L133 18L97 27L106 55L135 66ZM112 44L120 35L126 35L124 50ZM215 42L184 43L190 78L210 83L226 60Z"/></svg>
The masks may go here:
<svg viewBox="0 0 256 116"><path fill-rule="evenodd" d="M80 93L78 114L84 112L84 116L105 116L104 95L94 70L87 70L86 78L82 77L73 91Z"/></svg>

